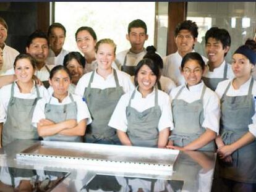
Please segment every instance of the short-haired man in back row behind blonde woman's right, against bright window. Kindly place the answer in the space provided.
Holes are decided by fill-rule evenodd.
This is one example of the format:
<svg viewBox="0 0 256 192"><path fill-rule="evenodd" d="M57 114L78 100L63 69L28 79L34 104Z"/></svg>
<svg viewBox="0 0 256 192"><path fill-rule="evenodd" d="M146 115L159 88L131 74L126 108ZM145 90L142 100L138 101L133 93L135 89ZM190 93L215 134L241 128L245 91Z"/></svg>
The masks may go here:
<svg viewBox="0 0 256 192"><path fill-rule="evenodd" d="M147 53L144 43L148 40L147 25L143 20L136 19L129 23L126 39L130 41L130 49L116 55L116 65L122 71L134 75L135 67Z"/></svg>

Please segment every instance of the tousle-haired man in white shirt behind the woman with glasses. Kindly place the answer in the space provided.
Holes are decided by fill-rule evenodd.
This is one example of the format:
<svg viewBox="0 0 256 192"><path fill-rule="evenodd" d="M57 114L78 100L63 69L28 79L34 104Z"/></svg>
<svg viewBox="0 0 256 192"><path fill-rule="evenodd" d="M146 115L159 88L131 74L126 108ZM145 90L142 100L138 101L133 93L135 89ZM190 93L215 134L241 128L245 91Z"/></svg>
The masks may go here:
<svg viewBox="0 0 256 192"><path fill-rule="evenodd" d="M179 23L174 31L174 41L177 46L177 52L163 58L163 75L171 78L177 86L185 83L180 71L181 61L187 53L194 51L197 36L198 27L195 22L185 20ZM203 61L206 62L207 58L203 57Z"/></svg>

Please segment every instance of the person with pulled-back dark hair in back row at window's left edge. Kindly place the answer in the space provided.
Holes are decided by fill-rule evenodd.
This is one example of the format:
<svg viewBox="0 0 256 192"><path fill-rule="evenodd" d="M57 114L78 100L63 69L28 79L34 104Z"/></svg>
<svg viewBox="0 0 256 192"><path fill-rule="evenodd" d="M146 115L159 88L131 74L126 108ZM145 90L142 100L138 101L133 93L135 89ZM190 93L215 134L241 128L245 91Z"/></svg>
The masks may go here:
<svg viewBox="0 0 256 192"><path fill-rule="evenodd" d="M63 49L66 38L66 28L61 23L53 23L48 28L49 56L47 61L51 65L63 65L63 60L69 51Z"/></svg>

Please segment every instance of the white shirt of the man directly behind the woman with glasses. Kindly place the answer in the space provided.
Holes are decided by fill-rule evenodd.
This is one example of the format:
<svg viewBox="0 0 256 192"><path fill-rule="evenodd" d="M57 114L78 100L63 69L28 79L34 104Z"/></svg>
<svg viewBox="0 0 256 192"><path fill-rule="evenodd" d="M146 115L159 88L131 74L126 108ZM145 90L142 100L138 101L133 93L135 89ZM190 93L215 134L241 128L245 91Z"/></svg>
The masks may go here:
<svg viewBox="0 0 256 192"><path fill-rule="evenodd" d="M192 52L195 52L195 51L193 50ZM207 64L208 59L203 56L202 58L203 58L203 61L205 61L205 64ZM163 57L163 62L164 62L163 75L165 77L171 78L177 86L184 85L185 80L183 75L181 75L181 70L180 70L182 57L179 55L179 53L174 52L169 56Z"/></svg>

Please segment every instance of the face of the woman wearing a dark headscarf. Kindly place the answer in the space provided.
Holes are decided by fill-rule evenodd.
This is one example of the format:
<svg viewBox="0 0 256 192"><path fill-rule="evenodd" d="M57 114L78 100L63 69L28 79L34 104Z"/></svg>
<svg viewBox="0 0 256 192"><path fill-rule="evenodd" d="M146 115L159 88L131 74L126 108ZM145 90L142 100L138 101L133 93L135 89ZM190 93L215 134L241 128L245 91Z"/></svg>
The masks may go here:
<svg viewBox="0 0 256 192"><path fill-rule="evenodd" d="M236 53L232 57L232 70L237 78L249 78L254 65L243 54Z"/></svg>

